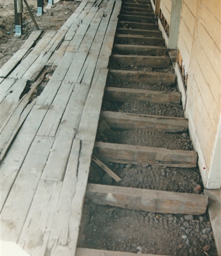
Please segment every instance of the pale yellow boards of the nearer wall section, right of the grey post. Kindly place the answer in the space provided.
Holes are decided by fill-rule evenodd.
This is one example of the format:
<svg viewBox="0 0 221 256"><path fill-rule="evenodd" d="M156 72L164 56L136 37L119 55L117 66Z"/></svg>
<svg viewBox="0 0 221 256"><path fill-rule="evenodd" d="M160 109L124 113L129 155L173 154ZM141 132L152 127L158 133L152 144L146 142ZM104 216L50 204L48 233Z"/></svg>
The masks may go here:
<svg viewBox="0 0 221 256"><path fill-rule="evenodd" d="M183 1L178 48L189 75L186 117L202 174L209 171L220 114L220 0Z"/></svg>

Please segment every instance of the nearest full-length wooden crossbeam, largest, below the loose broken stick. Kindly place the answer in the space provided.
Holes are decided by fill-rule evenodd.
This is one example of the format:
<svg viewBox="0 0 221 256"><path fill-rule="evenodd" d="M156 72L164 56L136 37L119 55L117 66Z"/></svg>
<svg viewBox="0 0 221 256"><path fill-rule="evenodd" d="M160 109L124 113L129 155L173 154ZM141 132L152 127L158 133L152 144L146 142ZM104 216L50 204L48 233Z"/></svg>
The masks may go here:
<svg viewBox="0 0 221 256"><path fill-rule="evenodd" d="M87 185L86 197L95 204L155 213L198 215L208 204L204 195L98 184Z"/></svg>

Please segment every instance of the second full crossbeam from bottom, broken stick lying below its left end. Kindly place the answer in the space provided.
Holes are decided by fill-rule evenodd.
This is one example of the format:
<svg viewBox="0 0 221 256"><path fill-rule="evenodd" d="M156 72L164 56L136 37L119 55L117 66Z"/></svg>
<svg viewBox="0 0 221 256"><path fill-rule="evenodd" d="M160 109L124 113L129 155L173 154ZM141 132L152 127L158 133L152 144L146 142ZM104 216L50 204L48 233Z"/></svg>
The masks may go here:
<svg viewBox="0 0 221 256"><path fill-rule="evenodd" d="M196 151L169 150L160 147L95 142L94 155L114 163L186 168L197 166Z"/></svg>

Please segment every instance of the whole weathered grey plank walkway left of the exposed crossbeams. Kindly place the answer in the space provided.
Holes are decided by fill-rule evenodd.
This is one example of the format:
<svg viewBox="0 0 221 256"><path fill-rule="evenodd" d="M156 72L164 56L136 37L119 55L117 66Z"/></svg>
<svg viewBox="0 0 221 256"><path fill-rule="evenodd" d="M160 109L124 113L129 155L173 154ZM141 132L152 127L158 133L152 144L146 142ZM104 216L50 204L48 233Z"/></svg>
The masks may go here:
<svg viewBox="0 0 221 256"><path fill-rule="evenodd" d="M120 1L83 0L1 84L2 240L31 255L75 255L120 8ZM32 98L48 64L55 71ZM28 80L36 82L20 98Z"/></svg>

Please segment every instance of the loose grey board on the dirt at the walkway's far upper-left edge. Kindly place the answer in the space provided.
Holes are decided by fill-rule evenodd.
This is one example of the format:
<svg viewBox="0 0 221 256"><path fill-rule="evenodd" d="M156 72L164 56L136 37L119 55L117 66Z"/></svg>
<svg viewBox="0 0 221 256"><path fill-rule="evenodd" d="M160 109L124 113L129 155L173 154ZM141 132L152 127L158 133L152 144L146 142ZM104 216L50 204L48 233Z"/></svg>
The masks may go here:
<svg viewBox="0 0 221 256"><path fill-rule="evenodd" d="M24 44L15 52L15 54L8 60L0 69L0 76L7 77L11 71L19 64L27 52L33 47L37 39L42 34L42 30L33 31Z"/></svg>

